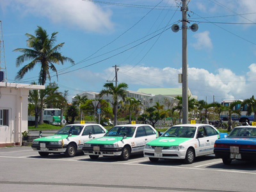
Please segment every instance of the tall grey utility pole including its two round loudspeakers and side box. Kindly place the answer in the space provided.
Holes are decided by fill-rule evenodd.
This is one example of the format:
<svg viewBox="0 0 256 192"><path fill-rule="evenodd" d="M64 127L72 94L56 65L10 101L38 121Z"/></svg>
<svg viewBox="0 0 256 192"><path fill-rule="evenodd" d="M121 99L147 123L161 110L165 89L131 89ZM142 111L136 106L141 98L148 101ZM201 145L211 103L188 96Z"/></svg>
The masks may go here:
<svg viewBox="0 0 256 192"><path fill-rule="evenodd" d="M182 83L182 124L188 124L188 42L187 42L187 12L188 0L181 0L182 1L182 74L179 74L179 83ZM178 32L180 29L178 24L173 24L172 31ZM189 29L195 32L198 29L197 24L192 24ZM181 82L180 82L181 80Z"/></svg>

